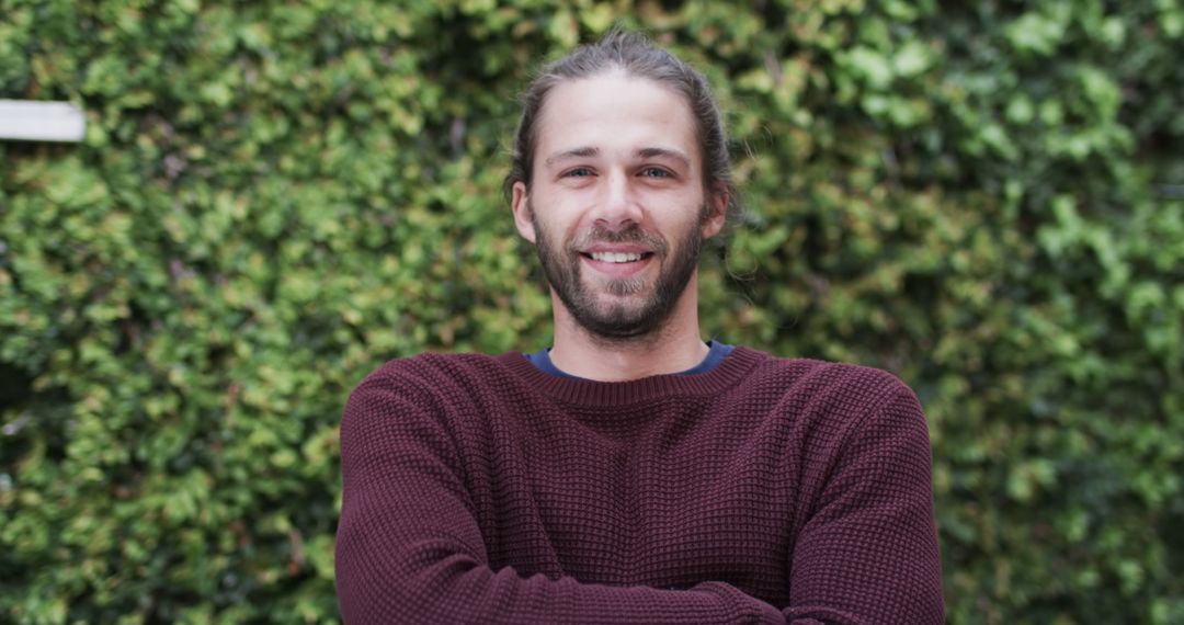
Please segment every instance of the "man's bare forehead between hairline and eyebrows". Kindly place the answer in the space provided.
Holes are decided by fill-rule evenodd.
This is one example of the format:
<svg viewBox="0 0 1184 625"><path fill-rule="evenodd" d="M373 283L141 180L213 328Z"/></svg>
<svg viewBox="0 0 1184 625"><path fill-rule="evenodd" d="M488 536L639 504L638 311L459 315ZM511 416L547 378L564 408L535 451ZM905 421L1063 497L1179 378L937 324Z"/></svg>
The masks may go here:
<svg viewBox="0 0 1184 625"><path fill-rule="evenodd" d="M616 71L560 83L547 94L538 124L535 166L572 149L613 155L659 148L687 154L699 167L690 105L649 78Z"/></svg>

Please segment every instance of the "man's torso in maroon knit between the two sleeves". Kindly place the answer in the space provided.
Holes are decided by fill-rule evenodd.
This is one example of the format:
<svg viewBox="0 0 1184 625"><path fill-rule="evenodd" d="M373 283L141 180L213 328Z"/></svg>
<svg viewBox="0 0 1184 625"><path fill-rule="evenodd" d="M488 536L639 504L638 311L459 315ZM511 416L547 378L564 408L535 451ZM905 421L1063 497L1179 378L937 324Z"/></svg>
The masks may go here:
<svg viewBox="0 0 1184 625"><path fill-rule="evenodd" d="M616 384L555 379L519 354L387 367L435 404L494 569L725 581L773 605L789 603L796 537L847 431L901 388L744 348L707 374Z"/></svg>

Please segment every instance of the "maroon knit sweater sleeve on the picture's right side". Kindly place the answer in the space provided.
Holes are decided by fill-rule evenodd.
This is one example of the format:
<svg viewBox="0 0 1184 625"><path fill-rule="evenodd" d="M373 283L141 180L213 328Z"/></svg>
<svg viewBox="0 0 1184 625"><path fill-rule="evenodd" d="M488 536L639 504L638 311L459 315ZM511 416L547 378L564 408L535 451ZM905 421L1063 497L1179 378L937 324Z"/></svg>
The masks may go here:
<svg viewBox="0 0 1184 625"><path fill-rule="evenodd" d="M928 430L903 385L845 433L791 554L796 625L944 620Z"/></svg>

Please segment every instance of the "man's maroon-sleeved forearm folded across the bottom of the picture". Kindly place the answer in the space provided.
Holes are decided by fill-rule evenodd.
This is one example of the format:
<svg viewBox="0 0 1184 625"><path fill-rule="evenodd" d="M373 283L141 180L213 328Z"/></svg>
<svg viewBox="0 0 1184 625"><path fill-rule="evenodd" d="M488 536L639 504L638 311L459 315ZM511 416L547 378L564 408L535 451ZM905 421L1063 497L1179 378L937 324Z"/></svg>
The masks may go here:
<svg viewBox="0 0 1184 625"><path fill-rule="evenodd" d="M785 623L773 606L721 582L671 591L522 578L509 567L493 571L452 541L418 541L395 553L378 542L342 528L337 595L346 623Z"/></svg>

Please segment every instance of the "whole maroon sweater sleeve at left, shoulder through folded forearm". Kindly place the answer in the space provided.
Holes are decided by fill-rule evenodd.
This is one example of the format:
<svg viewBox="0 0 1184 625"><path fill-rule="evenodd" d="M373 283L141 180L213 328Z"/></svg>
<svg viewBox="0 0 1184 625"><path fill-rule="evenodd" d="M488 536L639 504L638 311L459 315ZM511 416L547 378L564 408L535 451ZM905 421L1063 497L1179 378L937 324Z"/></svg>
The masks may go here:
<svg viewBox="0 0 1184 625"><path fill-rule="evenodd" d="M456 445L427 405L377 375L346 405L335 552L346 623L784 623L722 582L671 591L491 568Z"/></svg>

